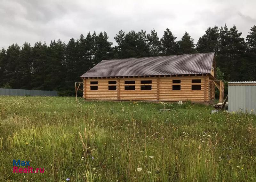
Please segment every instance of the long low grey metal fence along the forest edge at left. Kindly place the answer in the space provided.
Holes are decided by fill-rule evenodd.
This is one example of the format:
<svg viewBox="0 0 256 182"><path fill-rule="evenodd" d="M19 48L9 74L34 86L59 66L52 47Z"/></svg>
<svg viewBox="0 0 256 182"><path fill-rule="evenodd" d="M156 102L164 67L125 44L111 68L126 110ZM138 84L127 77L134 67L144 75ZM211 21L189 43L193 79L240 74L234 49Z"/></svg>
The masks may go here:
<svg viewBox="0 0 256 182"><path fill-rule="evenodd" d="M0 95L16 95L16 96L58 96L58 91L39 91L25 89L1 89Z"/></svg>

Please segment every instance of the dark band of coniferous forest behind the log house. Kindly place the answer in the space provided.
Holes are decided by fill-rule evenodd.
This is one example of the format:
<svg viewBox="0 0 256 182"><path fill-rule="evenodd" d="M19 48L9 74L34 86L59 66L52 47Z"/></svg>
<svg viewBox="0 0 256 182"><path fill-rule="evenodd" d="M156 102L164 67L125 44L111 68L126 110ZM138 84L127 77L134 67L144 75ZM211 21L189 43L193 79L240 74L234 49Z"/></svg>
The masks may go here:
<svg viewBox="0 0 256 182"><path fill-rule="evenodd" d="M236 26L209 27L194 44L187 31L177 40L167 28L163 36L153 29L124 32L108 41L106 32L89 32L68 44L61 40L31 45L12 44L0 51L0 88L58 90L59 95L74 95L74 83L103 59L137 58L215 52L217 79L256 81L256 26L244 39Z"/></svg>

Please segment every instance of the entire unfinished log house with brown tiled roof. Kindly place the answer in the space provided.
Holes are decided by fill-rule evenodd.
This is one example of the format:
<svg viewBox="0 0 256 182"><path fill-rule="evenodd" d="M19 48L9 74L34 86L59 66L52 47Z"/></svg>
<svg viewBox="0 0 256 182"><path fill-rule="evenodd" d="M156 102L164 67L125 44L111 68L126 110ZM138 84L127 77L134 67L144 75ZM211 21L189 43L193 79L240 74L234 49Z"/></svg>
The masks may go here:
<svg viewBox="0 0 256 182"><path fill-rule="evenodd" d="M81 78L86 100L211 103L215 85L221 89L215 75L215 53L210 52L102 60Z"/></svg>

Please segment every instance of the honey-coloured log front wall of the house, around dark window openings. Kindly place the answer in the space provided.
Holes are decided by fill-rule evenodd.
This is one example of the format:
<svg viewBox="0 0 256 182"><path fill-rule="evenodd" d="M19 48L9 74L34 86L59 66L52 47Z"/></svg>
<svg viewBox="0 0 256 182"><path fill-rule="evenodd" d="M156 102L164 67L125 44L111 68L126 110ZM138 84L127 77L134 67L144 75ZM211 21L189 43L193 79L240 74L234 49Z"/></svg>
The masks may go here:
<svg viewBox="0 0 256 182"><path fill-rule="evenodd" d="M201 83L192 83L192 79L200 79ZM141 80L151 80L152 83L140 84ZM172 83L172 80L180 80L180 83ZM91 81L97 81L98 85L90 85ZM116 81L116 91L108 90L109 81ZM125 84L124 81L135 81L135 84ZM201 85L201 90L192 91L192 84ZM125 85L134 85L135 90L124 90ZM152 85L152 90L142 91L141 85ZM180 85L181 90L172 90L172 85ZM98 90L90 90L90 86L98 86ZM208 76L84 79L84 99L208 102L211 96Z"/></svg>

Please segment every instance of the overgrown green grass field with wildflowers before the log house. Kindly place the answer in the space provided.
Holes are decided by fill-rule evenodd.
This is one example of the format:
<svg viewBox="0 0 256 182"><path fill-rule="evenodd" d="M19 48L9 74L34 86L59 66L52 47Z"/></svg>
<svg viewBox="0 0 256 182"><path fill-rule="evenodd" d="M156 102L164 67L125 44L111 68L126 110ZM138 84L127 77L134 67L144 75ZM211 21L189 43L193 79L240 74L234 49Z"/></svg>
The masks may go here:
<svg viewBox="0 0 256 182"><path fill-rule="evenodd" d="M0 181L256 181L256 116L211 110L1 96Z"/></svg>

